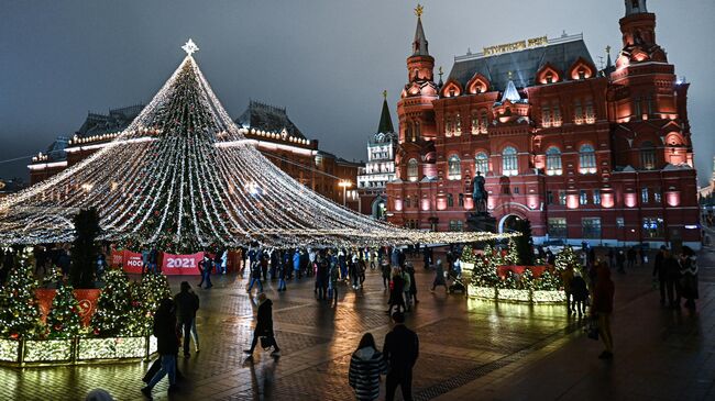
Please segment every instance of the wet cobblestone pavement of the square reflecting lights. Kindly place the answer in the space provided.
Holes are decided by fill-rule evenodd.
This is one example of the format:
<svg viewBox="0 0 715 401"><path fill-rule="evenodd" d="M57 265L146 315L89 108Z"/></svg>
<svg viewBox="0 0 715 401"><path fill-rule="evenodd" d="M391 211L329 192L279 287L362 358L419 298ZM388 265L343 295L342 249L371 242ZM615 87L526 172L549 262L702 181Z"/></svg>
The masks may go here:
<svg viewBox="0 0 715 401"><path fill-rule="evenodd" d="M407 325L420 336L414 393L417 400L715 399L715 254L704 252L700 312L662 310L650 268L617 276L614 337L616 358L596 359L601 344L586 339L581 321L563 307L529 307L466 300L429 292L432 274L417 272L420 303ZM421 266L421 264L419 264ZM174 290L185 278L172 278ZM201 298L201 350L179 369L179 391L155 400L352 400L346 383L350 355L372 332L382 348L391 323L387 294L377 271L364 292L341 288L337 308L316 301L312 279L288 282L274 300L276 338L283 356L256 352L245 361L255 307L245 279L215 277ZM193 282L193 285L195 285ZM58 368L0 368L0 400L81 400L94 388L118 400L143 400L145 363ZM384 387L384 386L383 386ZM383 389L384 390L384 389ZM399 396L398 396L398 399Z"/></svg>

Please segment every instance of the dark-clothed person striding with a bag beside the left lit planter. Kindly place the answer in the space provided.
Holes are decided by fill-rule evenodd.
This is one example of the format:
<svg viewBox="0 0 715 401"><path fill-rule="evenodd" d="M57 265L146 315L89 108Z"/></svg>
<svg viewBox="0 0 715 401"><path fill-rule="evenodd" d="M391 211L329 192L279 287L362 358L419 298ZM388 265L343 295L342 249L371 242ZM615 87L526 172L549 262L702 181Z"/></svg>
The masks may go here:
<svg viewBox="0 0 715 401"><path fill-rule="evenodd" d="M176 308L174 301L165 298L154 314L153 334L156 337L157 352L162 368L142 389L142 393L152 398L152 389L164 376L168 375L168 391L176 389L176 354L178 354L178 336L176 335Z"/></svg>

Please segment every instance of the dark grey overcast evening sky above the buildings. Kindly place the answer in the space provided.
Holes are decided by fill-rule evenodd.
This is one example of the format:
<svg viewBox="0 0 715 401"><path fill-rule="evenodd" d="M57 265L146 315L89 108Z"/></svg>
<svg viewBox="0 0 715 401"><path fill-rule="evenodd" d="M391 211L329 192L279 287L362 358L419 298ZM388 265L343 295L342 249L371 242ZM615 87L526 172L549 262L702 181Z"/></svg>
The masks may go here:
<svg viewBox="0 0 715 401"><path fill-rule="evenodd" d="M584 33L598 64L620 48L623 0L428 0L430 53L449 73L468 47ZM651 0L658 42L692 82L690 118L701 182L715 148L715 2ZM321 148L365 159L382 90L395 114L415 34L403 0L78 0L0 3L0 160L32 155L69 135L87 111L148 101L180 63L188 37L226 109L249 99L284 105ZM0 177L26 176L26 160Z"/></svg>

